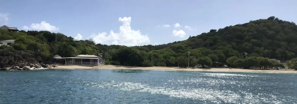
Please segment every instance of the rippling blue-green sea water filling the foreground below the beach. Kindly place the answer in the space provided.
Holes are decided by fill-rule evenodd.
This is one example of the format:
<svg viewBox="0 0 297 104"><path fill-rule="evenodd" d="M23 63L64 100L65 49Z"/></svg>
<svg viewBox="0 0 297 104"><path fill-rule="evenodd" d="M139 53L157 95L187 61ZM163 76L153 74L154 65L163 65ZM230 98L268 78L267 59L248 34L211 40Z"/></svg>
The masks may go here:
<svg viewBox="0 0 297 104"><path fill-rule="evenodd" d="M297 104L296 73L0 71L0 104Z"/></svg>

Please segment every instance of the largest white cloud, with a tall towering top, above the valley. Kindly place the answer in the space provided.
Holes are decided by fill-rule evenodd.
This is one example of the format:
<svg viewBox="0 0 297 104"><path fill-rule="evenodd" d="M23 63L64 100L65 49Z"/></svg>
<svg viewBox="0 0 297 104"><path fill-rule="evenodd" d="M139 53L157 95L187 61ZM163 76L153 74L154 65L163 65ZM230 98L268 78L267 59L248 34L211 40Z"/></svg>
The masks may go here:
<svg viewBox="0 0 297 104"><path fill-rule="evenodd" d="M119 21L123 23L120 26L119 33L114 33L113 30L110 31L109 35L106 32L92 34L91 38L94 39L96 43L103 43L116 45L125 45L125 46L137 46L141 43L149 43L149 37L147 35L142 35L139 30L135 31L131 29L131 17L119 17Z"/></svg>

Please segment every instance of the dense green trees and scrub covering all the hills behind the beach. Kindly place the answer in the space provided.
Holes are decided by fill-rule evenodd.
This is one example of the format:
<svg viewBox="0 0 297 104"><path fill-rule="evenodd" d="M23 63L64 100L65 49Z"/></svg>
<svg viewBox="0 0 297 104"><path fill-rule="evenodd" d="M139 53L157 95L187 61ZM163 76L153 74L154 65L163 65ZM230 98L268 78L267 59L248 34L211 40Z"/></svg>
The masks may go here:
<svg viewBox="0 0 297 104"><path fill-rule="evenodd" d="M287 61L288 66L291 65L289 62L296 63L294 58L297 53L297 25L274 16L218 30L211 29L208 33L190 36L184 41L155 46L108 46L95 44L92 39L73 41L72 37L49 31L0 30L0 41L8 39L16 41L11 46L0 47L0 66L13 64L16 60L49 63L56 54L72 57L79 54L97 55L100 52L106 64L113 65L187 66L189 61L190 66L210 66L219 62L234 67L267 68L280 66L269 58L281 61L292 59ZM4 56L6 59L3 59Z"/></svg>

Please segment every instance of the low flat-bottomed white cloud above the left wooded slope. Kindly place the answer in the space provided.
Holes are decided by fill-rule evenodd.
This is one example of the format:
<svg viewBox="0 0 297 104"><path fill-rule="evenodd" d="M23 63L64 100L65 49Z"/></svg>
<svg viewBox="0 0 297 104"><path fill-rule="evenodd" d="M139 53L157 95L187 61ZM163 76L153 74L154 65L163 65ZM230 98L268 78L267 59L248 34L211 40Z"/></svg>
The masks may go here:
<svg viewBox="0 0 297 104"><path fill-rule="evenodd" d="M23 26L24 30L39 30L39 31L56 31L59 30L58 27L50 25L50 23L46 23L45 21L42 21L41 23L32 23L30 27Z"/></svg>

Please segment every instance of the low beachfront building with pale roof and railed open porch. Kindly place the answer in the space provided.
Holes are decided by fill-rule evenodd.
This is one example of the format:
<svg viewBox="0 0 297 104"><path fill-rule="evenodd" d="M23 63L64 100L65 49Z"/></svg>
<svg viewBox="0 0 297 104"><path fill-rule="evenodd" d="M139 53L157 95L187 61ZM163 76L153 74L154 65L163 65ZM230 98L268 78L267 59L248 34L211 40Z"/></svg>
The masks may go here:
<svg viewBox="0 0 297 104"><path fill-rule="evenodd" d="M95 55L78 55L75 57L64 57L65 64L98 65L99 57Z"/></svg>

